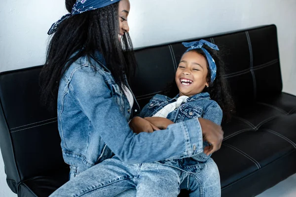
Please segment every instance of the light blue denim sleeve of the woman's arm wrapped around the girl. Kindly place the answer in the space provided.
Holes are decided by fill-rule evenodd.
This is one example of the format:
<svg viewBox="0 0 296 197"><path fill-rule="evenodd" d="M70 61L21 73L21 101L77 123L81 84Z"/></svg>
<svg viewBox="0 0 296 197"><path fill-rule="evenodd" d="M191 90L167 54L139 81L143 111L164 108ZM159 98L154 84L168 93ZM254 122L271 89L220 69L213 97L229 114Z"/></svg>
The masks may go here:
<svg viewBox="0 0 296 197"><path fill-rule="evenodd" d="M133 133L113 100L102 72L87 65L75 69L69 79L69 93L121 161L155 162L202 152L202 131L197 119L170 125L166 130Z"/></svg>

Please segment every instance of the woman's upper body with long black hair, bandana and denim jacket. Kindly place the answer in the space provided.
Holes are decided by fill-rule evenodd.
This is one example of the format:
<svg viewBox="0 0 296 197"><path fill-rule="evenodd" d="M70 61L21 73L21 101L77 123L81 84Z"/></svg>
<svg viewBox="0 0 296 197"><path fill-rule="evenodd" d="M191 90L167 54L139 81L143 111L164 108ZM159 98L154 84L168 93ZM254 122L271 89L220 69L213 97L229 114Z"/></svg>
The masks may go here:
<svg viewBox="0 0 296 197"><path fill-rule="evenodd" d="M42 98L58 109L70 184L87 169L99 176L93 166L113 153L129 164L191 157L203 152L203 137L211 144L207 154L220 149L221 127L204 119L159 132L141 119L133 121L134 128L149 132L135 134L130 129L128 120L140 109L126 77L135 65L128 34L129 0L66 0L66 7L71 14L48 32L55 34L40 77ZM78 182L79 187L73 182L78 191L88 190L86 180Z"/></svg>

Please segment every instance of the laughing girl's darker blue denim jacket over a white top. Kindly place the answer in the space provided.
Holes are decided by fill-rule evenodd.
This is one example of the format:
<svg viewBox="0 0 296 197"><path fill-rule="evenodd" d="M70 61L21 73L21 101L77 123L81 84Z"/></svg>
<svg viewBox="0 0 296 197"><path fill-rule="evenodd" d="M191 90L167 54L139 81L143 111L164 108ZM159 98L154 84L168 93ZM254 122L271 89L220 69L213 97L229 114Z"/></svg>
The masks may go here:
<svg viewBox="0 0 296 197"><path fill-rule="evenodd" d="M155 95L143 108L140 113L140 117L151 117L167 104L177 101L178 98L179 95L173 99L170 99L164 95ZM216 101L210 99L209 93L200 93L189 97L187 102L183 103L180 107L169 113L167 116L167 119L173 121L174 123L196 118L205 118L218 125L221 124L222 109ZM204 142L203 148L207 145L208 143ZM207 156L202 152L192 156L191 158L166 160L160 161L158 163L196 173L205 166L204 162L206 162L209 157L210 156Z"/></svg>

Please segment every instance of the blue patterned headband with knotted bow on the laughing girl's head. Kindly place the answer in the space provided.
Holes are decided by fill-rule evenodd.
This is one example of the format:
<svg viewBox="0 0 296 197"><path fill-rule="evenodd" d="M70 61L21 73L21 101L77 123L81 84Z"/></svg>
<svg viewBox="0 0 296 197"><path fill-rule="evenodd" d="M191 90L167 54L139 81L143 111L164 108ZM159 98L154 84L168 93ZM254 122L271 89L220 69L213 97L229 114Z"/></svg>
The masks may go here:
<svg viewBox="0 0 296 197"><path fill-rule="evenodd" d="M206 44L211 49L215 49L215 50L219 51L218 46L211 43L211 42L203 40L203 39L201 39L199 41L195 41L195 42L182 42L182 44L187 48L189 47L185 51L185 53L187 53L188 51L194 50L194 49L201 49L205 53L208 63L209 63L210 70L211 70L211 82L213 83L216 78L217 66L216 66L215 60L212 58L210 53L205 48L203 48L203 45Z"/></svg>

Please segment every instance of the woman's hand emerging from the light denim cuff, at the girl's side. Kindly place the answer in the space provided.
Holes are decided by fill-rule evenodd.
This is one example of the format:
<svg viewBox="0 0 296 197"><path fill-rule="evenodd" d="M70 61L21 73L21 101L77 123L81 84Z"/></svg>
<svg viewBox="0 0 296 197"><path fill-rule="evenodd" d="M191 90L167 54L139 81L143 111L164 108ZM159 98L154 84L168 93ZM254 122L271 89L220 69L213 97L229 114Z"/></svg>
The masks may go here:
<svg viewBox="0 0 296 197"><path fill-rule="evenodd" d="M202 135L204 140L208 141L210 146L206 146L204 153L210 155L221 148L223 134L222 127L207 119L199 118Z"/></svg>

